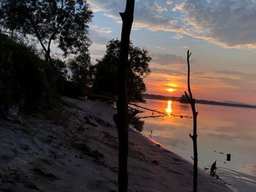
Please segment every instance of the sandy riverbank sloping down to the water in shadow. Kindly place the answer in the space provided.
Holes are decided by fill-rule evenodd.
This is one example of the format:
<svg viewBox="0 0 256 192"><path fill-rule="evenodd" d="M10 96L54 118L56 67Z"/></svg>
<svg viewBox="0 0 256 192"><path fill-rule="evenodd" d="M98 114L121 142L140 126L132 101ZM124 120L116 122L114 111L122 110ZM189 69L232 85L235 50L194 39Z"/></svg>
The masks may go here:
<svg viewBox="0 0 256 192"><path fill-rule="evenodd" d="M0 191L117 191L115 108L64 98L45 114L0 121ZM129 191L192 191L192 164L129 130ZM198 191L232 191L199 171Z"/></svg>

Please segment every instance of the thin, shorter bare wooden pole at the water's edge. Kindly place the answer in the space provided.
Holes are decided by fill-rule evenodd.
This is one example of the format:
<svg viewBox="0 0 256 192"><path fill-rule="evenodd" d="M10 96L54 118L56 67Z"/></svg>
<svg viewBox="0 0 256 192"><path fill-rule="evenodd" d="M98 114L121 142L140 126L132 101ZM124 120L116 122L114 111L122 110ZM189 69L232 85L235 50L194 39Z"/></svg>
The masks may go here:
<svg viewBox="0 0 256 192"><path fill-rule="evenodd" d="M187 50L187 89L189 91L189 94L185 91L185 95L187 96L187 100L189 101L189 104L192 109L193 113L193 135L189 134L189 137L193 141L193 150L194 150L194 177L193 177L193 191L197 191L197 164L198 164L198 157L197 157L197 114L198 112L195 110L195 99L193 98L192 91L190 88L190 63L189 63L189 57L191 56L191 53L189 53L189 50Z"/></svg>

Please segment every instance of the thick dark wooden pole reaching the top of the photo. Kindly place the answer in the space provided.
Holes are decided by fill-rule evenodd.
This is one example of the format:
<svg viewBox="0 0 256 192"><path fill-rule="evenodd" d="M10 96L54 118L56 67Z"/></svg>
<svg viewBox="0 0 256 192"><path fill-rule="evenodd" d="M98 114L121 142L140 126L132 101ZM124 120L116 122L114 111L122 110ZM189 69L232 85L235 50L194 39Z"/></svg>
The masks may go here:
<svg viewBox="0 0 256 192"><path fill-rule="evenodd" d="M128 120L128 99L127 99L127 68L129 53L129 36L132 29L135 0L127 0L124 12L120 12L123 21L121 31L121 50L118 66L118 100L116 103L117 115L114 116L118 129L118 191L126 192L128 188L128 138L129 138L129 120Z"/></svg>

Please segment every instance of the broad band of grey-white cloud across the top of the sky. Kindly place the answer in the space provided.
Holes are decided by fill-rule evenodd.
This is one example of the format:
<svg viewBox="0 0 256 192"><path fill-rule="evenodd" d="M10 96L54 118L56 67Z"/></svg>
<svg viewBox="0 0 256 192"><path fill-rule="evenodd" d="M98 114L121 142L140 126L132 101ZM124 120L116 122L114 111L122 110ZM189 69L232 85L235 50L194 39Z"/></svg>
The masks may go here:
<svg viewBox="0 0 256 192"><path fill-rule="evenodd" d="M124 0L88 0L92 9L121 23ZM172 4L173 1L165 1ZM225 48L256 49L255 0L184 0L168 12L152 1L136 1L134 29L170 31ZM148 9L151 6L151 9ZM167 12L168 14L164 14Z"/></svg>

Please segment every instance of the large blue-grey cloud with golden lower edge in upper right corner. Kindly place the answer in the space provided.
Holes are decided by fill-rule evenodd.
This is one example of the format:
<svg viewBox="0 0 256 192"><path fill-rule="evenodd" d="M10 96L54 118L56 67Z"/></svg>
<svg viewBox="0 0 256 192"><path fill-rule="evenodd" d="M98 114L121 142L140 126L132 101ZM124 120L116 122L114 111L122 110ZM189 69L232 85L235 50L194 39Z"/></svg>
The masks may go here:
<svg viewBox="0 0 256 192"><path fill-rule="evenodd" d="M187 1L183 11L192 37L226 48L256 48L255 1Z"/></svg>

